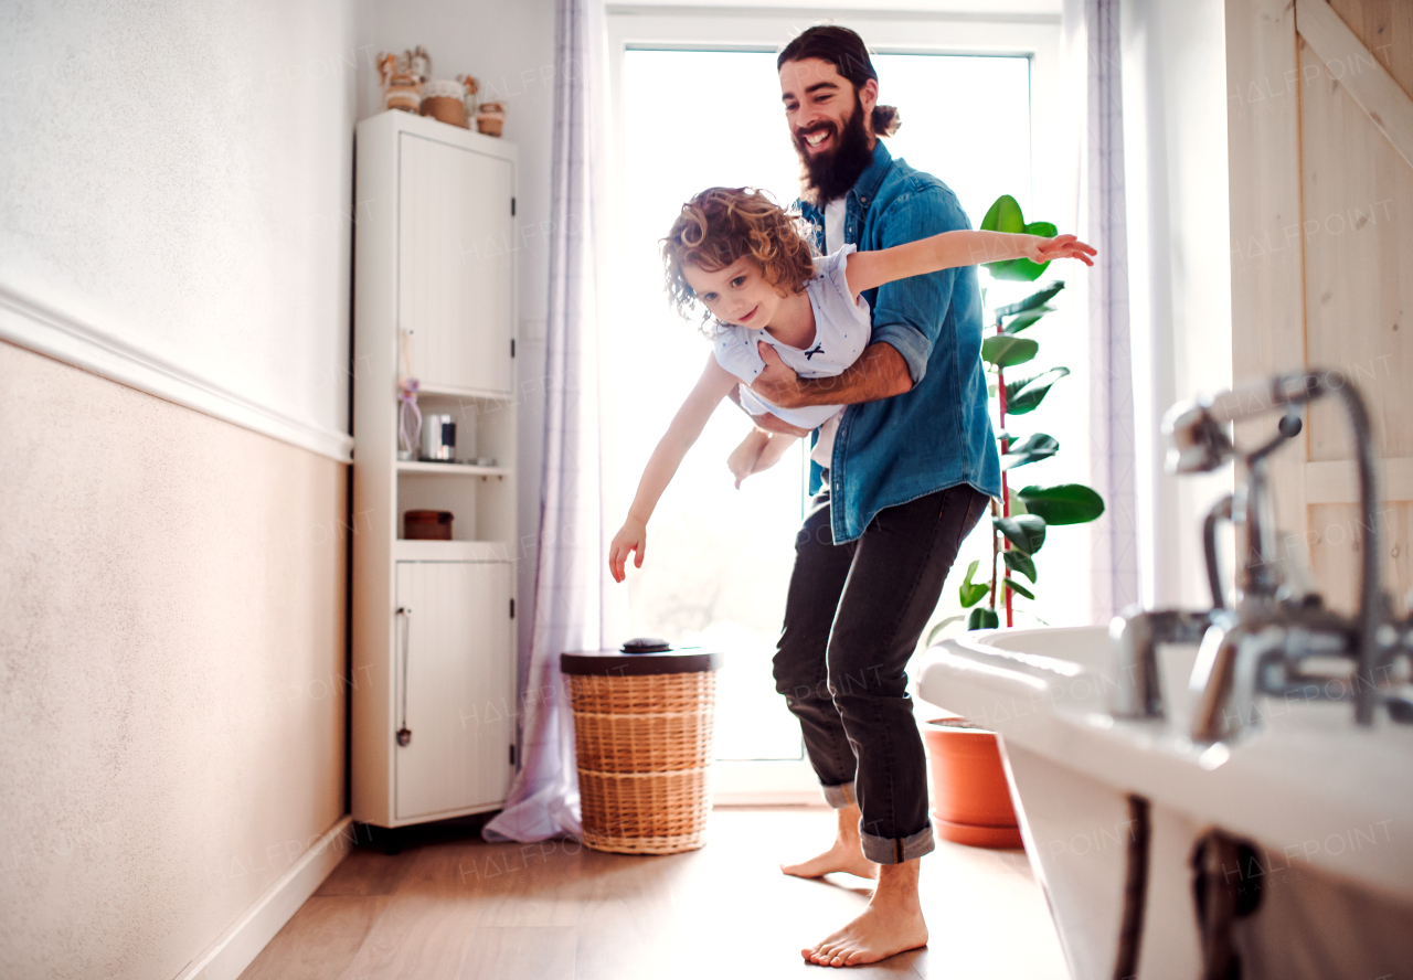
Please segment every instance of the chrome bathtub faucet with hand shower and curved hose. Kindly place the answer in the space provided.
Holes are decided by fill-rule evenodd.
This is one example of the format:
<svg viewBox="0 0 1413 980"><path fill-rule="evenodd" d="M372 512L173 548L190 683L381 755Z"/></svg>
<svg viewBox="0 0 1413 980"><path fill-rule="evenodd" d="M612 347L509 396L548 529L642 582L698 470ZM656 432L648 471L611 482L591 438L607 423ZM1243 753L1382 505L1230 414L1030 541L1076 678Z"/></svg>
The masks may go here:
<svg viewBox="0 0 1413 980"><path fill-rule="evenodd" d="M1331 384L1337 377L1340 384ZM1359 476L1359 514L1366 535L1361 548L1359 610L1344 617L1324 607L1308 587L1304 569L1277 554L1267 458L1300 432L1300 408L1327 394L1340 397L1349 417ZM1251 452L1226 435L1232 422L1282 411L1279 434ZM1118 717L1161 717L1157 645L1201 640L1190 679L1195 702L1191 737L1217 741L1239 734L1258 719L1258 698L1352 700L1355 720L1373 723L1386 703L1395 720L1413 720L1413 698L1388 683L1403 681L1413 662L1413 617L1392 623L1390 603L1379 587L1373 442L1369 415L1358 390L1342 376L1277 376L1211 398L1174 405L1163 419L1170 439L1171 473L1207 473L1241 456L1245 483L1207 514L1202 545L1212 607L1202 611L1123 610L1109 626L1118 686L1111 696ZM1236 607L1226 609L1217 561L1217 524L1231 520L1245 538L1239 548ZM1400 669L1390 669L1390 668ZM1376 679L1375 674L1381 674ZM1381 681L1382 689L1381 689Z"/></svg>

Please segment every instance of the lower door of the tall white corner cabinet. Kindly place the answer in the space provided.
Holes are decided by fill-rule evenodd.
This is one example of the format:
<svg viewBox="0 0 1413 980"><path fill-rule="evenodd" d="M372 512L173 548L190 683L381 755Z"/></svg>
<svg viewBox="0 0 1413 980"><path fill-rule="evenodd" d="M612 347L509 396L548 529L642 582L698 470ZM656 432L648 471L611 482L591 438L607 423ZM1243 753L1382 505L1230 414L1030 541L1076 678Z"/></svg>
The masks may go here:
<svg viewBox="0 0 1413 980"><path fill-rule="evenodd" d="M514 691L510 565L397 562L397 819L499 803L510 779ZM403 633L406 630L407 633ZM406 676L406 688L404 688Z"/></svg>

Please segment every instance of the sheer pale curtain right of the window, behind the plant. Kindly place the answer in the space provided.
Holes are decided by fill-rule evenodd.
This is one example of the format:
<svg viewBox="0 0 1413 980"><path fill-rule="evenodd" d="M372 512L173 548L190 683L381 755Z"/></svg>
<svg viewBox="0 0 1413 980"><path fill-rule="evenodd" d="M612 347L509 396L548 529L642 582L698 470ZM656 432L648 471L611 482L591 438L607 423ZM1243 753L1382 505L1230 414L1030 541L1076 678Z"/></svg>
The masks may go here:
<svg viewBox="0 0 1413 980"><path fill-rule="evenodd" d="M1064 58L1077 110L1081 239L1099 250L1072 277L1085 292L1089 328L1089 466L1105 500L1091 525L1091 621L1106 623L1140 599L1135 490L1133 356L1123 181L1121 0L1065 0Z"/></svg>

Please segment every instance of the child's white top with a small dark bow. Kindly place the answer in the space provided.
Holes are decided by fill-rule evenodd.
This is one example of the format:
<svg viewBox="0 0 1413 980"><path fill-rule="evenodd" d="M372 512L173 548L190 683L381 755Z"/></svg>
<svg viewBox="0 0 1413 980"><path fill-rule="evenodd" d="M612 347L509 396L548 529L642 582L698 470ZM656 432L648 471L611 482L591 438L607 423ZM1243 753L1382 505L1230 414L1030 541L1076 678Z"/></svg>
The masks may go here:
<svg viewBox="0 0 1413 980"><path fill-rule="evenodd" d="M815 462L822 458L824 462L820 465L825 467L829 465L829 456L834 450L834 429L838 428L838 415L842 414L844 407L780 408L752 391L749 386L766 367L766 361L756 349L756 343L760 340L774 347L780 360L804 378L842 374L844 369L858 360L863 349L869 346L872 335L869 304L862 297L858 301L853 299L853 292L845 277L848 257L853 251L855 246L844 246L829 256L814 260L814 278L805 282L805 295L814 311L814 342L808 349L791 347L776 340L763 329L752 329L739 323L719 325L715 337L712 337L716 363L742 380L742 408L752 415L770 412L803 429L825 426L811 453Z"/></svg>

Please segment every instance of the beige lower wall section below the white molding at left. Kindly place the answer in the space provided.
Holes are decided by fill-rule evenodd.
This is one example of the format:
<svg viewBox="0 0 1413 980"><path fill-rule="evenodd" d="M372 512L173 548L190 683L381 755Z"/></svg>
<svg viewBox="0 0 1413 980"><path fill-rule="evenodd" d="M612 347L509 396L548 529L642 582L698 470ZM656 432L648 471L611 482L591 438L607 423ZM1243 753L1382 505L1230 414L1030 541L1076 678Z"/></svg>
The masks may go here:
<svg viewBox="0 0 1413 980"><path fill-rule="evenodd" d="M0 976L175 976L343 812L345 466L0 343Z"/></svg>

